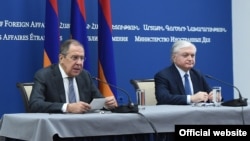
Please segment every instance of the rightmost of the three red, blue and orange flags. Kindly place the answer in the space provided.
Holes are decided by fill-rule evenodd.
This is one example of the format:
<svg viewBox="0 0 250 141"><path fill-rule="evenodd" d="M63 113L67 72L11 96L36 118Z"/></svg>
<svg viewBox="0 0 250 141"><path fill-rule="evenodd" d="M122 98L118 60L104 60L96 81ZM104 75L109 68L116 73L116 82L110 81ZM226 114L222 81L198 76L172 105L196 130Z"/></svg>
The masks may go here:
<svg viewBox="0 0 250 141"><path fill-rule="evenodd" d="M98 0L98 77L116 85L109 0ZM117 98L116 88L99 82L99 89L105 97L114 95Z"/></svg>

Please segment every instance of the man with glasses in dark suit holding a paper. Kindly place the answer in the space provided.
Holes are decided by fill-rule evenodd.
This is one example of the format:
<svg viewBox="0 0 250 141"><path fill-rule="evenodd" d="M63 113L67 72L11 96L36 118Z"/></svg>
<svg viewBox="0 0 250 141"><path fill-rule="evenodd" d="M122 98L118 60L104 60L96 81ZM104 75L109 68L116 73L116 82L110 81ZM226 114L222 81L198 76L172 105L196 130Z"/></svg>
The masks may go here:
<svg viewBox="0 0 250 141"><path fill-rule="evenodd" d="M83 69L84 47L76 40L65 41L60 48L59 64L38 70L34 76L29 106L31 112L85 113L93 98L101 98L91 75ZM74 102L70 102L69 78L73 79ZM115 108L114 96L106 97L105 106Z"/></svg>

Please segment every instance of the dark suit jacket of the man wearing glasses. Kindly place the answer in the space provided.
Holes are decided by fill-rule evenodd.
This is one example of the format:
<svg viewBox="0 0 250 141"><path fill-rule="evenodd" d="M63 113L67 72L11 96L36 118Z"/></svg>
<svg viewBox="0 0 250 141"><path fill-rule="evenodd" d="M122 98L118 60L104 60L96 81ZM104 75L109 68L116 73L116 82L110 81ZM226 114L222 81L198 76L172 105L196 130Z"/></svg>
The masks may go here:
<svg viewBox="0 0 250 141"><path fill-rule="evenodd" d="M90 103L93 98L103 97L86 70L76 77L76 82L80 101ZM64 103L65 90L58 64L37 71L29 100L31 112L61 113Z"/></svg>

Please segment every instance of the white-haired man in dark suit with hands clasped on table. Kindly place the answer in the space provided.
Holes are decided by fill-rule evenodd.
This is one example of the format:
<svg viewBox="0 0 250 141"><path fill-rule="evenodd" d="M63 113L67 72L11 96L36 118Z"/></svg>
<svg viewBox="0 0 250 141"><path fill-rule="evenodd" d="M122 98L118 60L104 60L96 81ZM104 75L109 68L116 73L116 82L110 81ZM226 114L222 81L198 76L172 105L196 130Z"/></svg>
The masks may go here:
<svg viewBox="0 0 250 141"><path fill-rule="evenodd" d="M172 64L154 76L157 104L186 105L212 101L212 89L203 75L193 68L195 45L184 40L177 41L172 46L171 54ZM189 76L189 93L185 93L185 74Z"/></svg>

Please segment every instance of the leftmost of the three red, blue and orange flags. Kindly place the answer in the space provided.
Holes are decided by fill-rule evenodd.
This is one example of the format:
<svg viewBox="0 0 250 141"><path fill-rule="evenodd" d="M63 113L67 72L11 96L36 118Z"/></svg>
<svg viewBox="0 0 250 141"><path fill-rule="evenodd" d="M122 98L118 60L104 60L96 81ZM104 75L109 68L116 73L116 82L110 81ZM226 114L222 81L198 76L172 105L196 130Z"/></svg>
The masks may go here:
<svg viewBox="0 0 250 141"><path fill-rule="evenodd" d="M57 0L46 0L43 66L58 63L60 39Z"/></svg>

